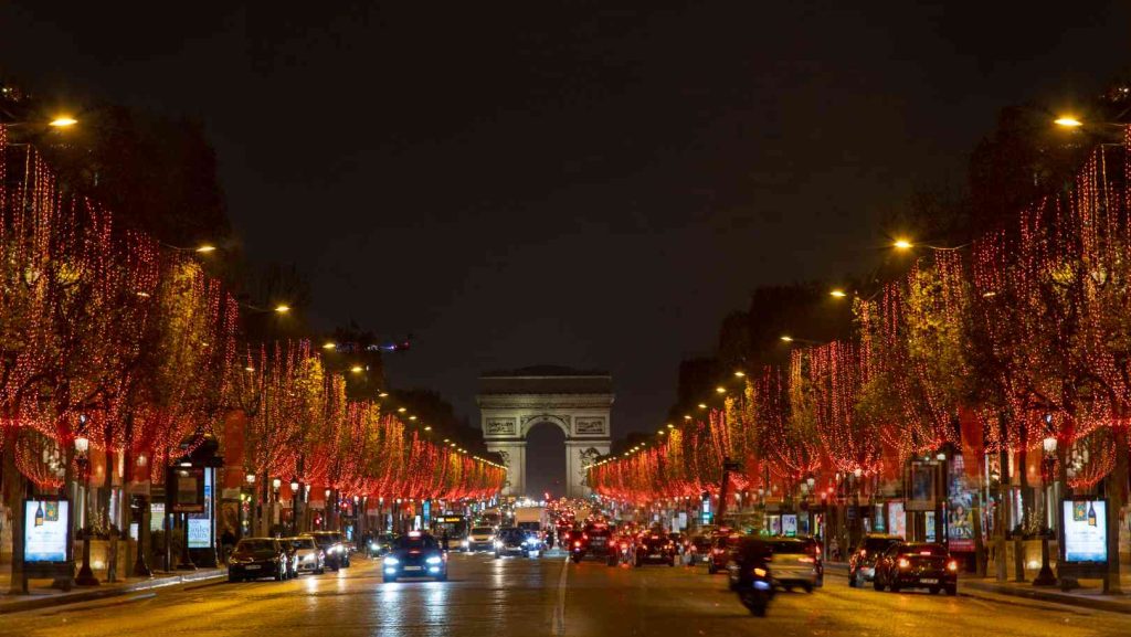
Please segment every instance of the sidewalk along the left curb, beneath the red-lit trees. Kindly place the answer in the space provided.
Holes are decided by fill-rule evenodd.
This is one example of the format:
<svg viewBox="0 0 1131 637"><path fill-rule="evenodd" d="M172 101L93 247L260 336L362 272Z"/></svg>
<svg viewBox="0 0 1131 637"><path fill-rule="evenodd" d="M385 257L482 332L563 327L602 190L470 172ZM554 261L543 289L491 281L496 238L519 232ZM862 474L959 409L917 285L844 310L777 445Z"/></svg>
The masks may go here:
<svg viewBox="0 0 1131 637"><path fill-rule="evenodd" d="M103 583L98 586L76 586L69 592L58 588L48 588L51 584L46 579L33 579L28 583L29 595L9 595L9 582L11 570L8 565L0 567L0 616L14 612L23 612L63 604L77 604L79 602L90 602L128 595L139 591L149 591L163 586L173 586L189 582L214 579L225 577L227 570L224 568L201 568L191 571L163 573L154 571L152 578L130 577L121 579L114 584Z"/></svg>

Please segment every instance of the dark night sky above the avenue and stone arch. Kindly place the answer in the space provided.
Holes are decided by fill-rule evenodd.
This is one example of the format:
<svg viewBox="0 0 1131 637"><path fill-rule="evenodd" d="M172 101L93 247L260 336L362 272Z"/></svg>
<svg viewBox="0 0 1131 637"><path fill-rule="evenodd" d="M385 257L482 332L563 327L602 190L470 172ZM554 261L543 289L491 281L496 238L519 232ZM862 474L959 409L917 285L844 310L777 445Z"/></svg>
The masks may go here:
<svg viewBox="0 0 1131 637"><path fill-rule="evenodd" d="M482 371L606 369L614 434L751 287L866 270L1001 106L1131 60L1114 1L116 5L0 2L0 75L204 119L250 258L415 334L394 385L477 422Z"/></svg>

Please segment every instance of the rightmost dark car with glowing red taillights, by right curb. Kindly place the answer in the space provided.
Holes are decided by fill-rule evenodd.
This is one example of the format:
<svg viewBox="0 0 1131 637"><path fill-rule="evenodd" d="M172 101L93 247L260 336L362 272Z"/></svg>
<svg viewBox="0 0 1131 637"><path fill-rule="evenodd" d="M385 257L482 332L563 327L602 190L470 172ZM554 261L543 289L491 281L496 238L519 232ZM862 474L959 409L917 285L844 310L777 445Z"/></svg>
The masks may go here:
<svg viewBox="0 0 1131 637"><path fill-rule="evenodd" d="M888 546L875 562L872 586L898 593L904 588L926 588L932 594L958 594L958 561L947 548L934 542L898 542Z"/></svg>

